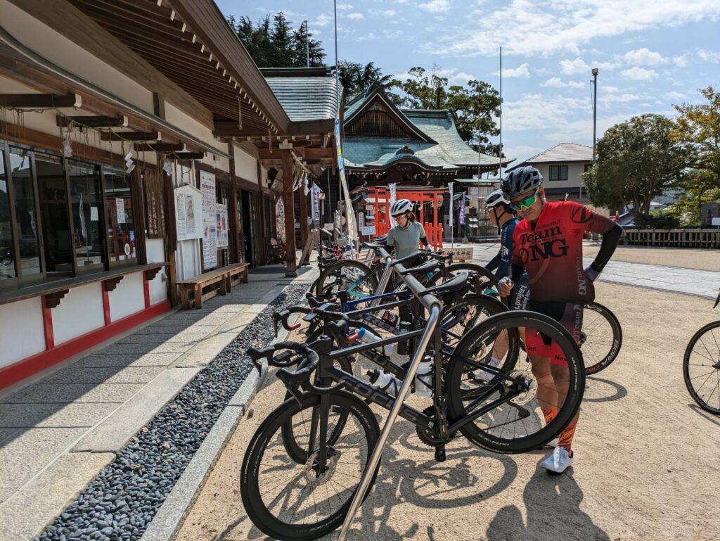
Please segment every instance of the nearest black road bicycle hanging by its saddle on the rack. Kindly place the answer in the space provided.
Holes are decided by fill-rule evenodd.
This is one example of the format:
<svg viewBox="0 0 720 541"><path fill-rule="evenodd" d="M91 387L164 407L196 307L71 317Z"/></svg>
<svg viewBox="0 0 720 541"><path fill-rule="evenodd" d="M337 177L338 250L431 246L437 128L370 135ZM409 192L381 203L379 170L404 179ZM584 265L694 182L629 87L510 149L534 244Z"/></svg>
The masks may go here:
<svg viewBox="0 0 720 541"><path fill-rule="evenodd" d="M562 431L577 412L585 389L585 370L572 336L552 318L528 311L506 311L488 318L448 351L439 326L446 295L459 281L450 280L428 292L401 264L393 267L428 317L421 324L371 344L357 344L348 314L315 308L323 332L310 344L282 342L248 349L255 362L280 367L277 377L290 397L258 427L248 444L240 472L240 495L254 524L282 540L309 541L342 524L344 540L379 469L380 457L397 416L414 424L423 442L445 460L445 445L462 434L487 450L518 453L541 447ZM418 328L419 327L419 328ZM488 365L495 341L517 336L518 328L537 331L557 342L567 359L558 372L564 398L559 413L545 423L540 385L531 365L511 362ZM336 362L378 347L411 341L412 361L397 397L370 385ZM423 410L405 403L418 367L431 361L432 389ZM291 364L292 363L292 364ZM295 370L289 370L296 366ZM473 377L490 372L486 380ZM562 376L562 378L561 378ZM420 400L418 398L418 400ZM369 403L390 411L382 431ZM288 437L292 434L292 438Z"/></svg>

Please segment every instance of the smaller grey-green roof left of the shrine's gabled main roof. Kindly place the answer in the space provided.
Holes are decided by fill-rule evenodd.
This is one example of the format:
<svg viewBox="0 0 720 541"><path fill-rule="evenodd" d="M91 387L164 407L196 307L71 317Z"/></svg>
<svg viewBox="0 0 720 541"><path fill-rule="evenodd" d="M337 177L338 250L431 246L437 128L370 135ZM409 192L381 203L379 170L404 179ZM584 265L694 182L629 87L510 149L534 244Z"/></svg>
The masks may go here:
<svg viewBox="0 0 720 541"><path fill-rule="evenodd" d="M330 120L338 113L336 79L320 77L266 77L292 122ZM342 91L342 89L341 89Z"/></svg>

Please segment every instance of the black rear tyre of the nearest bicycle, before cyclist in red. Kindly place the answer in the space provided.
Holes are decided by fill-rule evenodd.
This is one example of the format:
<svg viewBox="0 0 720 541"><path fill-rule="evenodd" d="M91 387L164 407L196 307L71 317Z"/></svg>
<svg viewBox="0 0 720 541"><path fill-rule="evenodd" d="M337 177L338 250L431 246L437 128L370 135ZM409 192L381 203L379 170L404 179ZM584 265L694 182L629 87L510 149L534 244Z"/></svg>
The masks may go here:
<svg viewBox="0 0 720 541"><path fill-rule="evenodd" d="M557 341L561 346L565 357L567 358L568 365L568 392L567 397L561 408L557 413L557 416L550 421L549 424L544 426L538 422L538 431L532 434L521 434L520 437L515 437L516 426L513 426L513 437L503 438L505 433L505 426L509 423L500 423L495 426L502 426L499 435L490 433L490 429L494 429L495 426L490 426L487 429L482 429L477 426L475 422L471 421L464 424L459 428L459 431L469 439L470 442L477 444L487 450L494 452L516 454L521 452L528 452L536 450L543 446L551 439L557 436L559 432L564 429L570 420L575 416L578 409L580 408L580 402L582 401L582 394L585 391L585 369L582 365L582 355L580 349L572 338L572 335L567 332L557 321L554 321L548 316L544 316L540 313L529 312L526 310L512 310L510 312L500 313L497 316L480 323L466 334L460 341L455 349L455 353L449 362L446 375L446 393L448 396L448 413L451 423L462 419L466 416L467 411L465 410L464 404L464 391L462 389L462 376L467 374L467 362L473 352L477 350L480 344L487 345L487 337L498 336L501 331L516 328L532 328L543 332L547 336L550 336L553 340ZM529 365L529 363L528 363ZM517 369L516 369L517 370ZM528 370L528 369L524 369ZM516 373L516 372L513 372ZM498 376L500 377L500 376ZM531 399L531 401L534 398ZM528 401L530 403L531 401ZM519 401L505 402L501 406L505 407L507 411L528 411L528 408L522 407L522 404L518 404ZM535 413L536 419L541 415L538 413L539 406L533 406L530 413ZM496 415L501 413L495 410ZM487 413L489 415L490 412ZM527 416L521 416L521 413L517 413L518 420L523 425L523 431L527 432L527 426L524 419ZM480 419L482 419L482 416ZM496 419L492 415L489 416L492 423L496 423ZM530 421L528 421L529 423ZM509 430L509 429L508 429ZM509 435L509 434L508 434Z"/></svg>

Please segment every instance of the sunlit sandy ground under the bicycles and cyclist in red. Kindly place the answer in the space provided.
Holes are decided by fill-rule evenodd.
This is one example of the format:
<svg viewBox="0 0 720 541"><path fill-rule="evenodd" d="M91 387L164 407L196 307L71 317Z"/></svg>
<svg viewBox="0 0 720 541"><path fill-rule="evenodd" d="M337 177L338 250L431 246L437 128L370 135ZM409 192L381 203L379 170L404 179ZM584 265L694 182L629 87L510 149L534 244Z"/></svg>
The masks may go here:
<svg viewBox="0 0 720 541"><path fill-rule="evenodd" d="M400 419L348 539L720 539L720 419L694 405L681 371L690 336L718 313L708 300L607 283L598 300L616 312L624 344L611 367L588 377L573 468L550 476L538 467L544 452L495 455L464 439L437 463ZM269 377L178 540L264 538L243 511L238 472L282 393Z"/></svg>

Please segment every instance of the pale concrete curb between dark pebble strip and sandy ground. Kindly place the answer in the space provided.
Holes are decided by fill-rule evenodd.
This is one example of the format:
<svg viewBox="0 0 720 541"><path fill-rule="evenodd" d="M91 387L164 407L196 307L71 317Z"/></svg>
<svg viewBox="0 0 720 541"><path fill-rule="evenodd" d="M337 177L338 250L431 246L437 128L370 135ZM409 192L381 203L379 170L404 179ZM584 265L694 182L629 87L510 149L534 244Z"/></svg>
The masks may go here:
<svg viewBox="0 0 720 541"><path fill-rule="evenodd" d="M275 294L275 297L279 293ZM289 331L281 329L276 339L271 344L283 341L287 338ZM220 417L212 426L195 455L183 474L180 476L170 494L158 509L150 527L145 530L140 541L171 541L183 524L192 504L210 475L210 470L215 466L220 452L228 443L230 435L238 426L240 419L250 406L258 389L264 383L268 372L268 365L263 362L260 373L253 369L248 377L240 385L238 391L230 398L228 406L220 413Z"/></svg>

